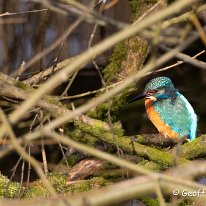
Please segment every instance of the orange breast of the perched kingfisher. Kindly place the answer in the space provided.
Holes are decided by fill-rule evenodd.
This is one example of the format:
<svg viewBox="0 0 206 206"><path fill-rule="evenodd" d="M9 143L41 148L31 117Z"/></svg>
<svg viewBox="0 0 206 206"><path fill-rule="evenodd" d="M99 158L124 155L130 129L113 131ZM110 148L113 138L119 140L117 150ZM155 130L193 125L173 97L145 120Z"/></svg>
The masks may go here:
<svg viewBox="0 0 206 206"><path fill-rule="evenodd" d="M153 101L151 99L146 99L145 108L151 122L155 125L155 127L161 134L167 135L170 138L177 138L179 135L162 121L162 119L160 118L159 114L155 111L154 106L152 104Z"/></svg>

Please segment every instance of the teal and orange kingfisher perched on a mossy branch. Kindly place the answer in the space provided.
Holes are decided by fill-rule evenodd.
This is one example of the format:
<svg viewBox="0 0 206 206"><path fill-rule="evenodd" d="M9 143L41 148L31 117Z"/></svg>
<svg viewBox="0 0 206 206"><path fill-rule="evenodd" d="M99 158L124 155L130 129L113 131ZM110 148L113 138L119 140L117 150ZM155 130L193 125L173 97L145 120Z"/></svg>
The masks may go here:
<svg viewBox="0 0 206 206"><path fill-rule="evenodd" d="M145 98L148 118L158 131L177 140L194 140L197 115L188 100L174 87L168 77L150 80L144 92L129 102Z"/></svg>

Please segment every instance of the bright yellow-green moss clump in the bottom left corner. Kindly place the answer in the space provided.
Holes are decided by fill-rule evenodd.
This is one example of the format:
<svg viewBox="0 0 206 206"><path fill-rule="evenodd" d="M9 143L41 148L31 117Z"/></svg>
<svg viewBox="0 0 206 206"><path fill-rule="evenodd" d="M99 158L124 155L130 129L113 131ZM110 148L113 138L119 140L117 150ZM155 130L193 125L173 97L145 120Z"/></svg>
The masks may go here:
<svg viewBox="0 0 206 206"><path fill-rule="evenodd" d="M19 183L9 182L6 176L0 174L0 197L15 198L19 193L19 189Z"/></svg>

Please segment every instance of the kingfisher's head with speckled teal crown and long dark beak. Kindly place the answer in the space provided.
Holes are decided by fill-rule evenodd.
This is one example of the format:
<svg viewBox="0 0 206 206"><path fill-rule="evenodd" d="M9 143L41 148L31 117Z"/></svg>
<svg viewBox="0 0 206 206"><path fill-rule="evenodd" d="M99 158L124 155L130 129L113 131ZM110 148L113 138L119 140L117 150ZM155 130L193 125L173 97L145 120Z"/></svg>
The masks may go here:
<svg viewBox="0 0 206 206"><path fill-rule="evenodd" d="M145 86L144 92L137 95L129 102L133 102L142 98L151 99L157 101L161 99L175 98L176 89L168 77L157 77L150 80Z"/></svg>

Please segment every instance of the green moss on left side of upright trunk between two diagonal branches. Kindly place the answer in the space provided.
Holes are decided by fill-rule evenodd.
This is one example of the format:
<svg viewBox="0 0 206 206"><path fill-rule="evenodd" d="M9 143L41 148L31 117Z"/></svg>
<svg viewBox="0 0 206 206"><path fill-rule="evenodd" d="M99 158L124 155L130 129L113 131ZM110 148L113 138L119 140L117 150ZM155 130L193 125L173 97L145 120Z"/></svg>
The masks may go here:
<svg viewBox="0 0 206 206"><path fill-rule="evenodd" d="M104 79L107 84L116 81L118 71L121 68L121 63L127 55L125 41L118 43L113 50L112 56L109 59L108 66L104 69Z"/></svg>

